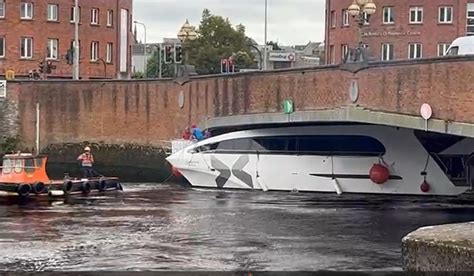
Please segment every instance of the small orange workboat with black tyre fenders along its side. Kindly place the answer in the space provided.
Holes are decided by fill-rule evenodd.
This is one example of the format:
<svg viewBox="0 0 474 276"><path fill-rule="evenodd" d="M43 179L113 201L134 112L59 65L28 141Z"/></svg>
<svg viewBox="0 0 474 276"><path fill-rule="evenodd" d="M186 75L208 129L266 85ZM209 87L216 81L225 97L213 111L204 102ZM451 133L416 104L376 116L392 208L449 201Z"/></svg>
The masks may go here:
<svg viewBox="0 0 474 276"><path fill-rule="evenodd" d="M0 195L57 197L123 190L117 177L65 176L62 180L50 180L46 173L47 160L45 155L30 153L4 155L0 174Z"/></svg>

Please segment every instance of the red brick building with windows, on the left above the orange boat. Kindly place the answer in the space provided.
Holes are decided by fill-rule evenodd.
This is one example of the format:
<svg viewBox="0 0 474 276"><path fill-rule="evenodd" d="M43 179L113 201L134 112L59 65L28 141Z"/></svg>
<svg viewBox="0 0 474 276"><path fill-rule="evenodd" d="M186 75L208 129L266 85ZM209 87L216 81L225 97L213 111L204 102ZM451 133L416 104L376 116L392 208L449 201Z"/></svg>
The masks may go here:
<svg viewBox="0 0 474 276"><path fill-rule="evenodd" d="M79 1L81 78L130 76L132 1ZM56 66L48 78L71 78L73 6L74 0L0 0L0 76L11 69L26 77L47 60Z"/></svg>

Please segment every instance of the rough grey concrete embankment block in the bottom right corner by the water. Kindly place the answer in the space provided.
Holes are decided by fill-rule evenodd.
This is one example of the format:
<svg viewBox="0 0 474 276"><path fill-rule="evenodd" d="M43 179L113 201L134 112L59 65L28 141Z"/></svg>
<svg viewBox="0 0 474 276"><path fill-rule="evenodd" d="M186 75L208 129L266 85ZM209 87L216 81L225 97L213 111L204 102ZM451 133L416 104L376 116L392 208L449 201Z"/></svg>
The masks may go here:
<svg viewBox="0 0 474 276"><path fill-rule="evenodd" d="M474 222L420 228L402 240L407 271L474 271Z"/></svg>

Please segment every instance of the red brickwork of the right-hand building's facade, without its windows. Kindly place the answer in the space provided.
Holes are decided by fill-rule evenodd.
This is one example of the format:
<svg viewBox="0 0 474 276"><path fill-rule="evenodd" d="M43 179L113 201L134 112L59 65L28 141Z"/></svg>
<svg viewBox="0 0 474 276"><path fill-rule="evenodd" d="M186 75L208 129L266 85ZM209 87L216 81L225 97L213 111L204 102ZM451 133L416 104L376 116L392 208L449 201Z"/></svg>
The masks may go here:
<svg viewBox="0 0 474 276"><path fill-rule="evenodd" d="M336 27L326 24L326 60L330 63L330 46L335 48L336 64L342 60L341 47L343 44L354 48L358 43L358 27L354 18L350 17L349 27L342 26L342 10L347 9L353 0L326 0L328 14L336 13ZM394 59L408 58L408 44L421 43L423 45L423 57L438 56L438 43L451 43L456 37L466 35L466 7L468 2L474 0L374 0L377 11L370 18L370 24L364 26L362 32L380 33L384 32L419 32L420 35L403 36L373 36L363 37L362 41L368 44L370 56L380 60L382 43L394 45ZM394 24L383 24L383 7L394 8ZM409 10L411 6L423 7L423 23L410 24ZM452 24L438 23L439 6L453 7ZM327 20L330 20L328 16Z"/></svg>

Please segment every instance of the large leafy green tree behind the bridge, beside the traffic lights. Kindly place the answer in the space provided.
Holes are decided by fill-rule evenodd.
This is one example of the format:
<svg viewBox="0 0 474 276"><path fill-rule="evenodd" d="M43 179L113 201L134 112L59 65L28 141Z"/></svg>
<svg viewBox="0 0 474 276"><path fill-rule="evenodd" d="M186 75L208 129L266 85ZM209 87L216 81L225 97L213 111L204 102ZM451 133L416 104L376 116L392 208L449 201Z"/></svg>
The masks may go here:
<svg viewBox="0 0 474 276"><path fill-rule="evenodd" d="M196 30L197 39L184 43L186 63L196 66L198 74L220 73L220 61L233 56L238 68L256 68L255 57L242 24L232 27L229 19L212 15L208 9L202 13Z"/></svg>

